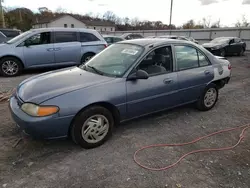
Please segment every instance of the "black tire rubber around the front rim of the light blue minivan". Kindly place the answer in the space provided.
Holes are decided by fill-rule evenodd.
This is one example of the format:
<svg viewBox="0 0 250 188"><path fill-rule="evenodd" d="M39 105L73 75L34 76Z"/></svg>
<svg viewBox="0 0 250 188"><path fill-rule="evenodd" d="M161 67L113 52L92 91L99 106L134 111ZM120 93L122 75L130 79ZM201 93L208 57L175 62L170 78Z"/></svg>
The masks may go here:
<svg viewBox="0 0 250 188"><path fill-rule="evenodd" d="M7 61L14 63L17 71L12 72L12 73L10 72L9 74L6 73L6 70L4 70L4 64ZM5 77L13 77L13 76L18 76L19 74L21 74L22 71L23 71L23 64L21 63L19 59L15 57L4 57L0 60L0 75L5 76Z"/></svg>

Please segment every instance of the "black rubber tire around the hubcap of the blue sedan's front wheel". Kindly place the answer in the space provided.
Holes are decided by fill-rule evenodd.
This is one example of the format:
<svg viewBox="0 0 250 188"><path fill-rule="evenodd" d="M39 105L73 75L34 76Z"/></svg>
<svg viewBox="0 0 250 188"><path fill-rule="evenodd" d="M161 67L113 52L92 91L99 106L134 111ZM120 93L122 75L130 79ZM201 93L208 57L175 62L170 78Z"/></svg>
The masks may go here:
<svg viewBox="0 0 250 188"><path fill-rule="evenodd" d="M96 143L89 143L82 136L82 128L85 122L90 117L93 117L94 115L104 116L108 120L109 127L108 127L107 134L102 138L102 140ZM97 124L94 124L94 126L97 126ZM90 148L95 148L104 144L112 136L113 127L114 127L114 118L111 112L101 106L92 106L92 107L87 108L83 112L81 112L79 115L77 115L77 117L75 118L73 122L70 132L71 132L72 140L75 143L79 144L81 147L85 149L90 149ZM92 130L88 132L92 132Z"/></svg>

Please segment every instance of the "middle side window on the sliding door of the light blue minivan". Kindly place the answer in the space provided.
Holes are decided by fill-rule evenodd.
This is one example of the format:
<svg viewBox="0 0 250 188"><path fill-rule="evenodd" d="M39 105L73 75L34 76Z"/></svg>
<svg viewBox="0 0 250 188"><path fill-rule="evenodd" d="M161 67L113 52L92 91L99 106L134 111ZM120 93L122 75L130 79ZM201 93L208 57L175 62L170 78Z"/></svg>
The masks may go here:
<svg viewBox="0 0 250 188"><path fill-rule="evenodd" d="M55 43L65 43L65 42L76 42L77 41L77 33L76 32L64 32L64 31L56 31L54 32Z"/></svg>

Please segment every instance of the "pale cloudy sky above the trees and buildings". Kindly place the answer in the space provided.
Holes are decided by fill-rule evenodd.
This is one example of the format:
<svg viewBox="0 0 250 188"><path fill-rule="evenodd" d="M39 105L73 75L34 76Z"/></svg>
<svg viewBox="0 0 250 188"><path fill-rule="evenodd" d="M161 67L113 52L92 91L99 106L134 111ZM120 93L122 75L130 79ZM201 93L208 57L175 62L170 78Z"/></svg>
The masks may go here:
<svg viewBox="0 0 250 188"><path fill-rule="evenodd" d="M26 7L37 11L47 7L58 8L70 13L103 14L112 11L119 17L169 23L171 0L4 0L6 7ZM198 22L203 18L216 22L220 19L223 26L233 26L242 16L250 21L250 0L173 0L172 23L180 26L188 20Z"/></svg>

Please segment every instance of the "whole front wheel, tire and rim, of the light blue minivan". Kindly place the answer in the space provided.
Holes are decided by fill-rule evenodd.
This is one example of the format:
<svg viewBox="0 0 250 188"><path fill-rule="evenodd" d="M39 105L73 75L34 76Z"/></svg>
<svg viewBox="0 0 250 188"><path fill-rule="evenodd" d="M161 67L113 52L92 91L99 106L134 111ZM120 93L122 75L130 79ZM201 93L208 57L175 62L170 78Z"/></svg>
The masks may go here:
<svg viewBox="0 0 250 188"><path fill-rule="evenodd" d="M17 76L22 72L22 69L22 63L15 57L5 57L0 60L0 74L3 76Z"/></svg>

